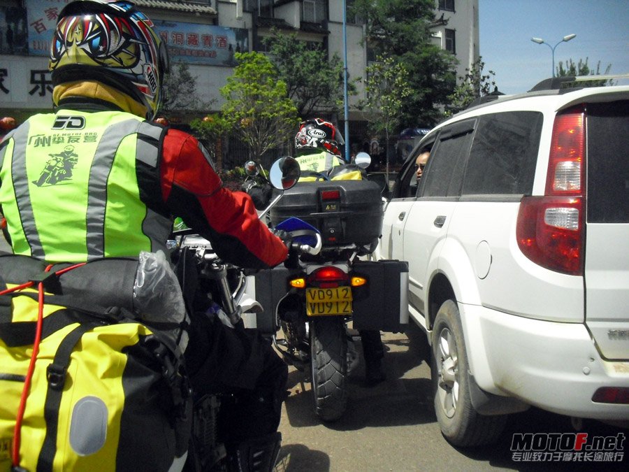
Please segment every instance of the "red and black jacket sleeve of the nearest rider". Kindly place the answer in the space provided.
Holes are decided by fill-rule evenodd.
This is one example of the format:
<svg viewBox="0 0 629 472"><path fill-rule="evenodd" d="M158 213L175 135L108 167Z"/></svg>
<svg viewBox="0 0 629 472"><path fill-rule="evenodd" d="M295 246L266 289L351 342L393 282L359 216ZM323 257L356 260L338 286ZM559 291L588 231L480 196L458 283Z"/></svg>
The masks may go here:
<svg viewBox="0 0 629 472"><path fill-rule="evenodd" d="M250 196L222 186L196 138L168 129L163 154L161 192L166 206L207 238L222 259L253 269L286 259L286 245L258 219Z"/></svg>

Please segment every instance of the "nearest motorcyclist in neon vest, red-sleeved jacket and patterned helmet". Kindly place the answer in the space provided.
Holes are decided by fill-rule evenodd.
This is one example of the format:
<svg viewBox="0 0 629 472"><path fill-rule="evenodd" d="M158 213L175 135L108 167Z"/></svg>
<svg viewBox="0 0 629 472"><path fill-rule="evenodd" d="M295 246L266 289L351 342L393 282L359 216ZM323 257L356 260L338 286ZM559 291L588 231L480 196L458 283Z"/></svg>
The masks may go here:
<svg viewBox="0 0 629 472"><path fill-rule="evenodd" d="M168 72L166 45L152 27L128 1L80 0L62 9L50 54L54 113L30 117L0 144L0 206L13 252L47 262L166 252L178 215L226 262L280 264L287 247L258 220L250 196L222 186L196 138L151 121ZM37 185L50 155L68 145L76 155L70 177ZM213 365L215 378L242 387L238 369L221 373L222 357L219 364L205 359L203 346L210 350L208 340L217 337L212 330L226 330L220 336L239 343L233 351L243 356L228 360L249 369L254 386L243 388L229 452L236 456L261 436L273 443L269 449L279 448L287 366L268 343L221 327L205 322L194 329L193 319L186 351L193 386L202 387L195 376Z"/></svg>

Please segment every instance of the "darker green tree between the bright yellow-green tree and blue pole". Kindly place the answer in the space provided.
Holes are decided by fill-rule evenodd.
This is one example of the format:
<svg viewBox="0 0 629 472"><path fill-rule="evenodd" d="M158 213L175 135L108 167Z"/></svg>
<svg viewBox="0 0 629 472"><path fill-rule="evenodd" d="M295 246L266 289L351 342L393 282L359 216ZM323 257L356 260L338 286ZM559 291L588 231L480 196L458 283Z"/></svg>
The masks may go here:
<svg viewBox="0 0 629 472"><path fill-rule="evenodd" d="M296 34L282 34L276 29L273 36L263 41L301 118L315 110L336 114L342 109L343 62L338 55L328 60L326 50L313 48L306 41L298 41ZM355 93L355 89L350 83L348 91Z"/></svg>

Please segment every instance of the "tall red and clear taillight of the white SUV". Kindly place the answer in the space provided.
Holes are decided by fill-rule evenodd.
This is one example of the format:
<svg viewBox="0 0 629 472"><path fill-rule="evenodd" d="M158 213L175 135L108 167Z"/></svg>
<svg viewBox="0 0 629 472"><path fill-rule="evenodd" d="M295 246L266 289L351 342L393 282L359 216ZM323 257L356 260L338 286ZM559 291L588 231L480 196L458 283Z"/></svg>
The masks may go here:
<svg viewBox="0 0 629 472"><path fill-rule="evenodd" d="M516 227L518 245L526 257L573 276L583 275L584 120L582 107L555 118L545 195L523 197Z"/></svg>

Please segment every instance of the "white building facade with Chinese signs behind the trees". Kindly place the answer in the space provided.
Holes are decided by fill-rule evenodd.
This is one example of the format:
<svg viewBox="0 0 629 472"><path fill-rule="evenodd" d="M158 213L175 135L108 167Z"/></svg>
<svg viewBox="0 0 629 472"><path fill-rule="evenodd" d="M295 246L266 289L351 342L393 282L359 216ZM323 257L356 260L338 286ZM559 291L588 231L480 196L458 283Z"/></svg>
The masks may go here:
<svg viewBox="0 0 629 472"><path fill-rule="evenodd" d="M0 116L22 122L50 110L52 83L48 49L59 10L70 0L0 0ZM352 0L346 0L348 4ZM197 93L218 110L219 89L231 76L238 51L263 51L273 28L321 43L344 57L344 0L134 0L153 20L168 45L171 62L185 61L196 77ZM457 76L479 55L478 0L435 0L433 41L460 61ZM368 64L364 27L347 17L347 70L364 78ZM349 120L361 121L350 97ZM212 111L212 110L208 110Z"/></svg>

